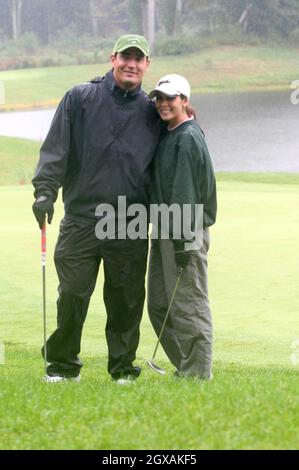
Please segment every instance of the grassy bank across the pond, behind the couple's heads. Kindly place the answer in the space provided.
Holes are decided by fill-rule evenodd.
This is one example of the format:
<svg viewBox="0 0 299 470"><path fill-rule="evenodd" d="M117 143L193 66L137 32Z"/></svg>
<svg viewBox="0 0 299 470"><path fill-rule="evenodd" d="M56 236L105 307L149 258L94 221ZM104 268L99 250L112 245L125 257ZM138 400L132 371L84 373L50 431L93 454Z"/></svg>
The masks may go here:
<svg viewBox="0 0 299 470"><path fill-rule="evenodd" d="M110 64L48 67L0 72L6 90L3 109L53 106L75 84L104 74ZM185 75L193 93L290 89L298 79L298 48L232 47L206 49L200 53L153 57L144 78L150 90L170 72Z"/></svg>

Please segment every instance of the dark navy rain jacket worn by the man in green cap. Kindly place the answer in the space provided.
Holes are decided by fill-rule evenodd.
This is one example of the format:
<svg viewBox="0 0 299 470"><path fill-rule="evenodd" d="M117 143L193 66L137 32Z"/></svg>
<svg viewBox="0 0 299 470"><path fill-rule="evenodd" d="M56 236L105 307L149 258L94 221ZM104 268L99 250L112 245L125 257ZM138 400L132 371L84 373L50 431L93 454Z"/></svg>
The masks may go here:
<svg viewBox="0 0 299 470"><path fill-rule="evenodd" d="M41 147L34 196L55 201L62 187L66 215L86 221L99 204L117 209L118 196L148 206L160 122L141 88L120 89L112 71L72 88Z"/></svg>

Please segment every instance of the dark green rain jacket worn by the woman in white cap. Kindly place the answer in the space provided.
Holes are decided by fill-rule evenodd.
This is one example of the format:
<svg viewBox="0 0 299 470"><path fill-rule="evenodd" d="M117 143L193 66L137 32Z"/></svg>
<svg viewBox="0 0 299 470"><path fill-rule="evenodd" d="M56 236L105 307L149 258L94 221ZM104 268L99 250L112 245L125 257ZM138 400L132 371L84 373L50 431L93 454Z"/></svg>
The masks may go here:
<svg viewBox="0 0 299 470"><path fill-rule="evenodd" d="M195 204L203 204L203 227L215 223L215 174L204 134L196 121L185 121L163 135L153 162L151 203L178 204L181 208L190 204L193 211ZM175 250L184 249L186 241L191 240L183 236L173 240Z"/></svg>

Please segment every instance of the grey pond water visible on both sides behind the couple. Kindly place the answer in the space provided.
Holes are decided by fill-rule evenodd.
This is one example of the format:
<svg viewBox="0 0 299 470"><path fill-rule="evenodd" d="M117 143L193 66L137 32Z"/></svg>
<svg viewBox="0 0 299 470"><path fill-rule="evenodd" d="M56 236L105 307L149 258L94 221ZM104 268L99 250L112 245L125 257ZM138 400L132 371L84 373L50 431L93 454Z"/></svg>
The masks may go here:
<svg viewBox="0 0 299 470"><path fill-rule="evenodd" d="M216 171L299 173L299 105L290 92L197 95ZM0 113L0 134L42 141L55 110Z"/></svg>

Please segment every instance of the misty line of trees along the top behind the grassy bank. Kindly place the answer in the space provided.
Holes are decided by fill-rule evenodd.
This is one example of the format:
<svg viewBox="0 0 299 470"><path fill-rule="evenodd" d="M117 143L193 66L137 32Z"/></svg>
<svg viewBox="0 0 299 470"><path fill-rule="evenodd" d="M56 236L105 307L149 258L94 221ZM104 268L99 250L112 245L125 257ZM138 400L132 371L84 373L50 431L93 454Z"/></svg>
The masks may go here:
<svg viewBox="0 0 299 470"><path fill-rule="evenodd" d="M34 33L42 45L72 30L112 38L123 32L213 35L229 28L299 43L299 0L0 0L0 38Z"/></svg>

